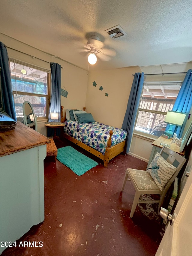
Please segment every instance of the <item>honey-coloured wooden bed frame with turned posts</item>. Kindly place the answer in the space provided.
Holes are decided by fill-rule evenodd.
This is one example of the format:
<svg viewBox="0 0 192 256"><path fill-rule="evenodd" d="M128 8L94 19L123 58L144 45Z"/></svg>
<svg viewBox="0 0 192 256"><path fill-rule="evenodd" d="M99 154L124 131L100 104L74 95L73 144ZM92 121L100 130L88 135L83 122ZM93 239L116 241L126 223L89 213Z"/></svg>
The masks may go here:
<svg viewBox="0 0 192 256"><path fill-rule="evenodd" d="M85 111L85 107L83 108L83 110ZM65 121L66 121L66 114L63 115L63 106L61 106L61 122L65 122ZM81 141L76 140L73 137L70 137L69 135L65 134L64 132L61 133L61 138L63 137L67 140L72 141L79 147L85 149L86 151L90 152L91 154L102 159L104 161L104 167L107 167L107 164L109 163L109 161L112 158L114 158L116 155L119 155L121 152L123 152L124 146L125 146L125 141L122 141L119 144L116 144L115 146L111 147L111 136L113 135L113 131L111 130L109 132L109 134L110 134L110 137L107 142L107 147L105 149L105 155L103 155L101 152L91 148L90 146L87 146L86 144L82 143Z"/></svg>

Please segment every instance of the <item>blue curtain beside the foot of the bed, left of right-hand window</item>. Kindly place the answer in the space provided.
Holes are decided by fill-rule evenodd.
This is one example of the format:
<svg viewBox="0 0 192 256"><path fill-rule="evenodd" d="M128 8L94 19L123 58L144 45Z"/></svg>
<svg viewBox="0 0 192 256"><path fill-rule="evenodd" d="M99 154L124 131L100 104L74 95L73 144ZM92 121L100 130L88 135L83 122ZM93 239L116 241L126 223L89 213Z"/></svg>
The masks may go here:
<svg viewBox="0 0 192 256"><path fill-rule="evenodd" d="M137 116L137 110L139 108L140 97L143 89L144 73L135 73L133 84L131 87L131 92L129 95L129 100L127 104L127 110L125 112L125 117L122 124L122 129L128 132L128 137L126 140L126 145L124 152L128 153L131 140L134 131L134 124Z"/></svg>

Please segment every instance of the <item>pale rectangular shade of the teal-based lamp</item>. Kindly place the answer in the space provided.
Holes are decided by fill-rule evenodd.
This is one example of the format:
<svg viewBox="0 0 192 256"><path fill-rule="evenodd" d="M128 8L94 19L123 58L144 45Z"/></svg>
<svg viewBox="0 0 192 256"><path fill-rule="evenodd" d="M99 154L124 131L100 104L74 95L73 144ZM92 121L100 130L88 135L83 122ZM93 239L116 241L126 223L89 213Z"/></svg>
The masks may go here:
<svg viewBox="0 0 192 256"><path fill-rule="evenodd" d="M186 113L168 111L164 122L172 125L182 126L185 116Z"/></svg>

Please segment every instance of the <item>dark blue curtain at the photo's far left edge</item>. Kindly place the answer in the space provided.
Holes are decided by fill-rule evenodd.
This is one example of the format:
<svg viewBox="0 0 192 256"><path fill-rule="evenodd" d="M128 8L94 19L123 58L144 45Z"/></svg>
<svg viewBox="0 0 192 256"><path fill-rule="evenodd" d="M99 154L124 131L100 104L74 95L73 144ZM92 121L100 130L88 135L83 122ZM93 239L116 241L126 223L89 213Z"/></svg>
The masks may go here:
<svg viewBox="0 0 192 256"><path fill-rule="evenodd" d="M9 59L6 46L0 42L0 67L1 67L1 93L3 110L15 121L16 112L13 100L13 90L11 86L11 76L9 69Z"/></svg>

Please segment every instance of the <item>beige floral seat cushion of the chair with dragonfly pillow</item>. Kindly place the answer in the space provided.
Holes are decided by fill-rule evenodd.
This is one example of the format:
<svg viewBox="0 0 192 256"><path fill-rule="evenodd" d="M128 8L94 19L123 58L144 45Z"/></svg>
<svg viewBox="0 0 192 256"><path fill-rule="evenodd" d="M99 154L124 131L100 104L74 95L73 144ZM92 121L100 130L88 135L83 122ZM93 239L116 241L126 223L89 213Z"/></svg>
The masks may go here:
<svg viewBox="0 0 192 256"><path fill-rule="evenodd" d="M139 190L159 190L152 176L143 170L127 169Z"/></svg>

